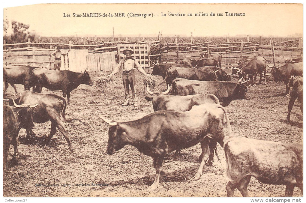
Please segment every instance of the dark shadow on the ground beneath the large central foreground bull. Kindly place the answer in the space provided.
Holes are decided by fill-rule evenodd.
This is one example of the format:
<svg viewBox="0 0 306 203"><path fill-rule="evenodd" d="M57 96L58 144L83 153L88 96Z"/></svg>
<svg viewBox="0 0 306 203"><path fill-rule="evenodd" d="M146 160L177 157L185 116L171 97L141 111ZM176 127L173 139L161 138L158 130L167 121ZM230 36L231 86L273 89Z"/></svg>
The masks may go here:
<svg viewBox="0 0 306 203"><path fill-rule="evenodd" d="M165 164L166 165L166 164ZM196 174L198 167L197 166L190 166L190 167L185 167L182 168L180 170L168 173L166 172L162 172L160 175L160 179L159 179L159 184L162 185L163 182L165 183L171 183L171 182L191 182L193 181L193 177ZM163 166L166 167L166 166ZM213 166L208 167L208 166L204 166L203 168L203 172L202 172L202 176L205 176L205 173L215 173L217 174L218 172L216 171L217 169L213 168ZM135 173L137 173L137 171L135 171ZM201 177L202 177L201 176ZM114 181L112 183L110 183L110 186L122 186L125 184L134 184L134 185L145 185L145 186L151 186L151 184L154 182L155 179L155 174L154 175L145 175L142 178L134 178L134 179L130 179L130 180L118 180L118 181ZM101 182L103 182L101 180ZM144 188L146 189L146 188Z"/></svg>

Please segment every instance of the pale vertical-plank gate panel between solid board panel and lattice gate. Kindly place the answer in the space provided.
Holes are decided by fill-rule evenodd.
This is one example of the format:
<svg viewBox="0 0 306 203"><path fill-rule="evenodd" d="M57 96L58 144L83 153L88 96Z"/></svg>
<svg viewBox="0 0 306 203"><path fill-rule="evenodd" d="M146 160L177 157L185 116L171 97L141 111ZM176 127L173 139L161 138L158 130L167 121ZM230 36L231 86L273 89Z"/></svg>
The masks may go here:
<svg viewBox="0 0 306 203"><path fill-rule="evenodd" d="M89 54L86 56L88 71L113 71L116 67L114 52L105 52L103 54Z"/></svg>

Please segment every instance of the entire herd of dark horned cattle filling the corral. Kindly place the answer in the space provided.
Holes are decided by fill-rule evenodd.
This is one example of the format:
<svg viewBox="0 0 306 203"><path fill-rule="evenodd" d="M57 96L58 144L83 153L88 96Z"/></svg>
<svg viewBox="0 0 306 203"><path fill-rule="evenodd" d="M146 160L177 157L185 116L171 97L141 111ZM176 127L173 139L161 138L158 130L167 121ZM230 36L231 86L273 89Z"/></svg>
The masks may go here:
<svg viewBox="0 0 306 203"><path fill-rule="evenodd" d="M292 196L295 186L303 193L303 145L233 136L224 108L233 100L250 99L246 83L250 81L255 86L257 74L260 75L259 83L262 75L266 81L267 61L257 57L242 61L237 67L233 66L232 75L238 74L240 78L237 83L230 82L231 76L221 68L221 61L221 54L211 57L200 54L199 60L187 58L178 65L155 64L153 75L164 78L167 90L152 92L146 87L150 96L145 99L152 101L154 113L127 122L116 122L100 116L110 125L107 153L114 154L125 145L132 145L141 153L153 157L156 176L150 188L155 189L159 187L162 162L168 152L178 152L200 142L201 164L194 177L197 180L202 175L204 164L212 164L219 143L226 155L226 171L230 179L226 190L229 197L233 196L235 188L244 197L248 196L247 186L251 176L263 183L286 185L285 196ZM50 120L51 131L45 144L58 128L73 152L62 118L66 122L79 119L65 118L67 103L64 97L67 95L69 104L72 90L80 84L93 85L88 72L53 71L30 66L4 66L3 72L4 93L8 83L14 88L15 84L22 84L25 90L15 99L4 99L9 105L3 105L3 170L7 168L11 144L14 146L13 161L19 157L17 137L20 129L26 129L27 140L30 136L36 136L32 131L33 122ZM293 87L287 120L290 121L290 111L296 98L300 100L303 114L303 62L290 59L281 67L272 67L271 79L285 83L286 95L289 94L290 86ZM173 95L168 94L170 86ZM33 91L29 91L31 87ZM42 94L42 87L52 91L62 90L63 97ZM223 132L223 115L228 136L224 136Z"/></svg>

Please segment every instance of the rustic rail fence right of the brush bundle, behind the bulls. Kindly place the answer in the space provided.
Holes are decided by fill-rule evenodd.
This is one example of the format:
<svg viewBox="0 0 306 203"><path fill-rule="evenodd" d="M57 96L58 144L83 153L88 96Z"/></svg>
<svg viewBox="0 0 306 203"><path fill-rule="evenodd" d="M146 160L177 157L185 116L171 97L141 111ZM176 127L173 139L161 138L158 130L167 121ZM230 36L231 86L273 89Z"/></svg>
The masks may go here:
<svg viewBox="0 0 306 203"><path fill-rule="evenodd" d="M222 44L212 44L212 42L192 43L192 37L190 43L178 43L177 38L175 43L162 43L162 61L166 63L179 63L186 57L195 57L199 59L199 53L220 53L222 54L222 67L231 67L231 64L241 62L250 57L262 56L268 63L284 63L284 57L302 57L302 38L296 40L289 40L285 42L273 43L270 45L263 45L262 38L259 38L259 44L252 42L224 42ZM297 47L285 46L288 42L298 42ZM283 45L283 46L281 46ZM274 49L274 57L273 51ZM273 59L274 58L274 59Z"/></svg>

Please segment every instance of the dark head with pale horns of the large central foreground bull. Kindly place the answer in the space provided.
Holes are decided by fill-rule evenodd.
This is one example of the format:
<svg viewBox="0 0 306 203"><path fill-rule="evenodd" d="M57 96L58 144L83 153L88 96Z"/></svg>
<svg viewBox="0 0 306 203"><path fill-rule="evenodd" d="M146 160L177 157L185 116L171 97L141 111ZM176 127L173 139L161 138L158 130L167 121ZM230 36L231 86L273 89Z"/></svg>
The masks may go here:
<svg viewBox="0 0 306 203"><path fill-rule="evenodd" d="M124 124L117 123L114 120L109 120L103 116L99 116L104 120L105 123L110 125L108 130L108 143L107 143L107 154L114 154L115 151L122 149L127 141L127 133L124 128Z"/></svg>

